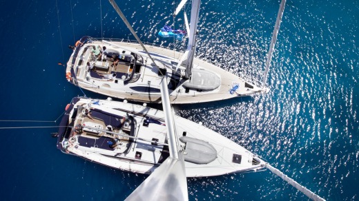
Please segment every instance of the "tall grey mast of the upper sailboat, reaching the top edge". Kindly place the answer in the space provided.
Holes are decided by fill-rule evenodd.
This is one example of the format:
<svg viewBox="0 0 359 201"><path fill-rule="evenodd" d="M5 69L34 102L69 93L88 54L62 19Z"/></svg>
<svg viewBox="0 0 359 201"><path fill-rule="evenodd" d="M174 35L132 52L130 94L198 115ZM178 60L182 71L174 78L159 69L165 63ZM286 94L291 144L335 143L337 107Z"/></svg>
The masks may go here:
<svg viewBox="0 0 359 201"><path fill-rule="evenodd" d="M193 67L193 59L195 58L195 47L197 43L197 23L198 17L200 15L200 3L201 0L192 0L192 8L191 8L191 25L188 36L188 47L186 52L187 59L184 61L184 66L186 67L186 74L184 78L191 78L192 75L192 67Z"/></svg>

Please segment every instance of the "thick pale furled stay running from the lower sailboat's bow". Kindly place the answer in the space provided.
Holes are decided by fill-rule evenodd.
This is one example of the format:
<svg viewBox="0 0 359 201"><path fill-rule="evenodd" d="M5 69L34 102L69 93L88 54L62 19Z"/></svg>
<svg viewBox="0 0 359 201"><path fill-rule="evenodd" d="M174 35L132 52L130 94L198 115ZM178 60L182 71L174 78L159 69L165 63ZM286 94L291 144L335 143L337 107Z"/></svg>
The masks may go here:
<svg viewBox="0 0 359 201"><path fill-rule="evenodd" d="M293 180L292 178L289 178L288 176L286 176L279 169L276 169L275 167L273 167L273 166L271 166L269 164L266 164L266 168L269 169L271 172L273 172L276 176L279 176L284 181L291 184L293 187L295 187L295 189L298 189L298 191L300 191L300 192L304 193L305 195L307 195L307 197L310 198L311 200L315 200L315 201L324 200L323 198L320 198L318 195L316 195L316 193L313 193L311 190L307 189L306 187L303 187L298 182L295 182L295 180Z"/></svg>

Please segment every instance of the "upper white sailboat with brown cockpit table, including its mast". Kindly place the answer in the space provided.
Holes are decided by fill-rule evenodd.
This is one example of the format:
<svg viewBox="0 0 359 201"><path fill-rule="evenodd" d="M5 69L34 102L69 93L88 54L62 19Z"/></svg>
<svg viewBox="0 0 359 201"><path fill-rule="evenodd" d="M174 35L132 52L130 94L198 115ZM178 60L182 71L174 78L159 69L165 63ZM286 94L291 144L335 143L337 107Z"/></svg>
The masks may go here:
<svg viewBox="0 0 359 201"><path fill-rule="evenodd" d="M185 0L179 3L175 15L180 12L184 3ZM173 104L210 102L268 92L269 89L264 86L265 79L262 85L246 81L195 58L200 0L193 0L191 5L191 25L186 23L186 52L143 43L84 36L70 56L66 78L92 92L146 103L161 102L159 85L162 74L169 83ZM124 19L122 12L117 12ZM184 16L187 19L186 14ZM127 21L125 23L132 29ZM99 56L98 49L104 50L103 54L106 56Z"/></svg>

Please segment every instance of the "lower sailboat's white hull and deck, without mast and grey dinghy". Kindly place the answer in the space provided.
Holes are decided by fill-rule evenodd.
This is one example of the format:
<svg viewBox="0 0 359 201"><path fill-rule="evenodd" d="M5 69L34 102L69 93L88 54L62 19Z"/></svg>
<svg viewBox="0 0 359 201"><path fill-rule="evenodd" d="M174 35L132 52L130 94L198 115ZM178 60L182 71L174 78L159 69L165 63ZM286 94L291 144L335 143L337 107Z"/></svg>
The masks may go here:
<svg viewBox="0 0 359 201"><path fill-rule="evenodd" d="M74 127L74 125L77 124L90 125L90 123L93 123L93 121L88 120L86 117L84 118L84 116L80 114L77 114L76 117L74 116L74 111L79 112L79 105L83 105L93 108L95 123L99 120L95 117L95 112L99 109L106 111L107 114L114 112L113 116L128 114L133 116L133 119L137 122L135 126L135 137L142 139L147 138L148 140L155 138L158 143L166 143L164 113L160 110L113 100L79 98L77 101L77 103L73 104L72 109L70 108L66 112L68 115L64 116L64 118L69 118L68 126L70 127L71 125ZM146 119L155 120L152 120L152 123L145 126L144 121L146 121ZM186 161L187 177L220 176L235 172L256 171L264 167L264 162L257 156L211 129L179 116L175 116L175 123L177 125L177 134L181 136L184 135L189 139L202 140L204 144L209 143L216 151L216 157L212 161L202 162L202 164ZM71 132L73 132L73 130L65 131L59 135L57 147L66 154L79 156L101 165L134 173L152 173L161 162L165 160L163 154L166 150L164 146L160 144L153 145L152 142L140 142L135 139L130 147L128 147L129 151L125 153L126 151L124 152L123 149L124 146L109 149L106 147L108 145L104 145L106 144L106 140L101 141L101 138L106 137L110 139L108 138L108 134L94 135L92 133L89 135L84 131L84 133L72 138ZM121 131L118 132L121 133ZM86 138L86 140L84 140L84 138ZM95 145L95 143L97 144ZM179 143L181 147L189 146L182 142ZM138 153L141 154L140 158L136 157ZM186 151L184 153L186 153ZM166 157L168 156L169 154L167 154ZM239 160L235 161L236 157L237 159L239 157Z"/></svg>

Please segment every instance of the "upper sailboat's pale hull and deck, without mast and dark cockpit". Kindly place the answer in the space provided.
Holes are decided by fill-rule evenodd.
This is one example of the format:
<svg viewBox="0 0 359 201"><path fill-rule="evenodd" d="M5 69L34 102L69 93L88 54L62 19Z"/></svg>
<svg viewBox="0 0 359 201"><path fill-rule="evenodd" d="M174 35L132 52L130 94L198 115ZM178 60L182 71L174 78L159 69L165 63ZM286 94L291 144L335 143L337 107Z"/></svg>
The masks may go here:
<svg viewBox="0 0 359 201"><path fill-rule="evenodd" d="M139 78L133 83L126 83L126 81L124 81L126 78L128 78L130 70L124 70L124 72L121 72L122 77L119 75L117 78L106 80L104 77L99 78L99 76L93 76L95 72L91 72L91 74L88 73L86 63L91 61L91 56L88 53L85 54L84 50L86 47L92 45L99 45L100 47L106 46L108 49L115 52L127 52L128 55L134 54L133 52L137 52L141 55L144 54L144 50L142 50L142 47L137 43L125 43L121 41L90 41L90 43L86 43L81 47L77 47L79 48L78 54L76 56L72 54L70 57L66 72L67 74L70 74L71 69L73 68L75 71L74 76L76 76L76 81L73 81L74 78L71 79L69 77L68 81L91 92L104 94L106 96L134 100L143 103L161 103L161 95L159 93L159 83L161 77L159 76L159 71L154 66L151 59L146 59L144 57L144 63L142 67L140 67L141 70L138 72ZM171 83L172 81L172 83L174 82L173 85L175 85L175 87L170 86L169 89L171 103L173 104L204 103L215 100L235 98L238 96L251 96L253 94L268 92L267 88L261 88L251 82L244 81L244 79L240 78L239 76L231 74L231 72L227 72L220 67L200 59L194 59L193 68L197 69L197 72L200 70L211 72L213 75L220 78L220 83L219 85L216 85L214 89L208 89L207 87L201 86L197 88L188 87L191 86L191 84L189 84L191 81L193 82L193 80L200 79L201 74L193 74L191 79L188 80L179 78L177 76L176 82L174 81L175 78L173 76L171 67L169 67L172 65L173 69L175 69L174 63L179 61L173 58L181 58L183 53L174 50L168 50L163 47L156 47L151 45L145 46L159 67L163 67L163 64L166 65L165 74L168 77L168 83ZM75 56L75 59L73 56ZM108 63L104 65L106 67L106 72L104 72L104 74L112 74L116 71L117 74L120 74L118 72L120 68L122 66L124 66L122 70L126 68L126 65L122 65L115 70L114 67L108 66ZM201 81L198 81L197 83L200 82ZM210 83L210 81L208 81L208 83ZM235 91L231 91L235 85L238 85L238 87L236 87Z"/></svg>

